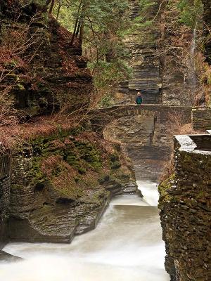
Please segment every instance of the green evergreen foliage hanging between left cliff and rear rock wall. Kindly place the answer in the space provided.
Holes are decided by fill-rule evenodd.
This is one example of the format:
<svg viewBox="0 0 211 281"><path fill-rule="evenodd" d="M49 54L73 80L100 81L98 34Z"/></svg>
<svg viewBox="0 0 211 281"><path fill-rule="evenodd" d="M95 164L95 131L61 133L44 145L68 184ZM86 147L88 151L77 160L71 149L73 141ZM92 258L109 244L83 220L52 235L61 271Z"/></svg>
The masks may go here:
<svg viewBox="0 0 211 281"><path fill-rule="evenodd" d="M122 60L128 56L122 39L130 22L129 1L61 0L53 13L73 33L72 44L81 41L99 96L110 96L118 82L131 73Z"/></svg>

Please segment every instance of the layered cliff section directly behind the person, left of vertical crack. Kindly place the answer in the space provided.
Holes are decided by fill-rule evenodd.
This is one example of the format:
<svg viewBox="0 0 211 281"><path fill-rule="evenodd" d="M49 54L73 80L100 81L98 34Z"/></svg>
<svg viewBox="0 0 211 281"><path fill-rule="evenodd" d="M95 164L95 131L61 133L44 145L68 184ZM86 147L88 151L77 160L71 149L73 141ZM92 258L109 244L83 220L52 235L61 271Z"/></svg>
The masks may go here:
<svg viewBox="0 0 211 281"><path fill-rule="evenodd" d="M159 1L158 1L159 2ZM139 1L130 1L130 11L132 20L141 16L142 8ZM118 93L117 103L131 103L136 99L137 91L143 93L143 103L160 103L160 90L162 88L160 58L156 56L157 40L160 31L144 27L144 22L148 22L155 17L158 12L158 4L154 4L144 15L144 20L140 22L140 27L134 28L124 40L125 48L130 53L129 66L132 67L133 74L129 81L122 81Z"/></svg>

